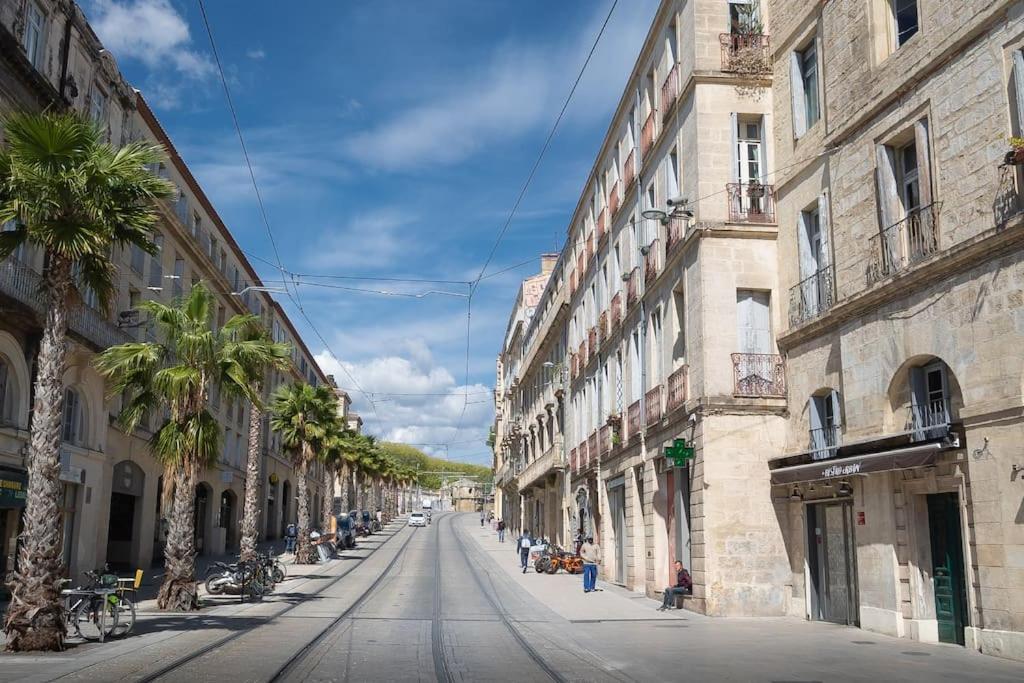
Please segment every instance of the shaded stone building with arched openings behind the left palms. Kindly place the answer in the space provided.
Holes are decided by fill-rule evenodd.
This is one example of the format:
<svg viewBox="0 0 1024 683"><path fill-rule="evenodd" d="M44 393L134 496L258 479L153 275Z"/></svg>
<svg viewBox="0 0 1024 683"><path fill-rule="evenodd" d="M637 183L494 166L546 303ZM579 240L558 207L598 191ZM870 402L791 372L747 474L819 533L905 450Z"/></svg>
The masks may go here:
<svg viewBox="0 0 1024 683"><path fill-rule="evenodd" d="M147 568L160 561L164 542L160 488L162 466L147 442L156 421L125 433L114 418L119 400L109 400L102 378L93 370L94 354L108 346L153 338L137 310L140 301L170 302L204 282L217 297L214 325L234 313L259 315L278 341L291 342L293 364L272 373L266 395L293 380L312 383L327 378L284 310L264 292L233 237L178 155L141 93L118 71L81 9L66 0L0 1L0 112L72 108L108 130L114 144L148 139L168 153L154 168L179 188L172 202L158 206L156 256L140 250L117 250L122 276L111 310L80 289L81 303L70 315L65 394L63 545L69 575L110 563L118 569ZM43 255L26 247L0 263L0 488L17 492L27 484L25 454L31 421L35 356L41 334L36 283ZM250 288L250 289L247 289ZM224 430L218 464L200 477L197 497L197 546L201 553L232 550L245 486L248 407L214 395L212 410ZM265 419L265 418L264 418ZM266 423L264 423L266 427ZM318 465L317 465L318 467ZM310 472L311 503L324 495L318 469ZM261 538L281 536L296 515L294 469L280 438L264 431L260 482ZM14 559L24 500L0 496L0 573Z"/></svg>

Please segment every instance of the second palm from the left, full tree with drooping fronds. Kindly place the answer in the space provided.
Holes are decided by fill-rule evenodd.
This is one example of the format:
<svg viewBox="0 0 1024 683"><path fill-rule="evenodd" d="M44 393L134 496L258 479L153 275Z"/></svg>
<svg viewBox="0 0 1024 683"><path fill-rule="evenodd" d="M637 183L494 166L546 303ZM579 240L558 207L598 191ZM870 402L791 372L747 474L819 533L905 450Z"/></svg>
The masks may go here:
<svg viewBox="0 0 1024 683"><path fill-rule="evenodd" d="M220 454L221 428L208 410L210 391L258 401L248 368L270 364L272 344L251 336L255 315L233 315L212 331L215 299L203 284L174 305L144 301L139 308L156 324L159 342L112 346L95 360L111 380L112 396L126 394L119 419L129 432L152 414L165 415L151 440L154 456L174 479L165 550L161 609L199 607L196 592L196 484Z"/></svg>

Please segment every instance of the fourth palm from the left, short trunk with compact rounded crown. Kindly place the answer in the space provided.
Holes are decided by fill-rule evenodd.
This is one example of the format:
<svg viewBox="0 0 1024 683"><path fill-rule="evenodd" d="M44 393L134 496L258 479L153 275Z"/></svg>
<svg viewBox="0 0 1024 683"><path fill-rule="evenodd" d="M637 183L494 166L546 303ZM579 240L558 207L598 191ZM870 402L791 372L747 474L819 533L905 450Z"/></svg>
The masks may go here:
<svg viewBox="0 0 1024 683"><path fill-rule="evenodd" d="M270 402L270 426L281 433L285 447L292 452L298 478L299 498L298 544L295 561L311 564L315 553L309 543L309 495L306 473L315 458L315 447L327 435L329 425L337 419L337 396L326 385L312 387L304 383L283 386Z"/></svg>

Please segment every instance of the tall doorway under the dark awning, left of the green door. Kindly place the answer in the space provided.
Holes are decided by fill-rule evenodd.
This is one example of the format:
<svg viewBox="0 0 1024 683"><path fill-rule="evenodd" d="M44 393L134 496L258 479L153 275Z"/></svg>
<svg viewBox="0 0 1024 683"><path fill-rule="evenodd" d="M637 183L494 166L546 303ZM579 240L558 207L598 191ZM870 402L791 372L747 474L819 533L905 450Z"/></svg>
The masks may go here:
<svg viewBox="0 0 1024 683"><path fill-rule="evenodd" d="M859 625L853 504L807 506L807 564L810 617Z"/></svg>

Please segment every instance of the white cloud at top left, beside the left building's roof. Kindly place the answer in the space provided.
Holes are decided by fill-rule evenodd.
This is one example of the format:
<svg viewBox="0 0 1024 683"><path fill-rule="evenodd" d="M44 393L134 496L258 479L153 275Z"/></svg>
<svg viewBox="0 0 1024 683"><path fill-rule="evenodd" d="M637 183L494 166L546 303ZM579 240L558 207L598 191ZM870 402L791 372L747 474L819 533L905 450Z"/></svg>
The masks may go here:
<svg viewBox="0 0 1024 683"><path fill-rule="evenodd" d="M188 25L169 0L94 0L93 7L92 28L116 56L154 71L170 66L194 79L213 75L213 63L194 49Z"/></svg>

